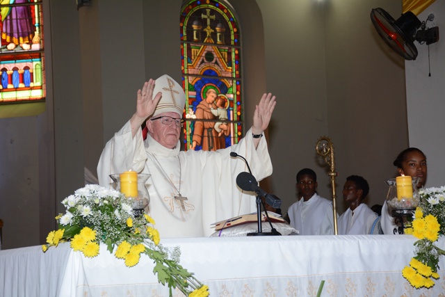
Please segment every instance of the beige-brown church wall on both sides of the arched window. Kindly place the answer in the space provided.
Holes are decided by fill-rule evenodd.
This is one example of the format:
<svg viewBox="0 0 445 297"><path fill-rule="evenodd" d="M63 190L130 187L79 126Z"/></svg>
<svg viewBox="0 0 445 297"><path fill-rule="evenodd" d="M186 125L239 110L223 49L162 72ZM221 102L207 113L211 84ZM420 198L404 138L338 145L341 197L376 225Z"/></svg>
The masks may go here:
<svg viewBox="0 0 445 297"><path fill-rule="evenodd" d="M303 167L316 170L319 192L330 196L314 149L323 135L334 141L337 190L346 176L361 174L371 184L370 204L381 202L383 180L394 173L390 163L407 145L405 83L403 61L379 43L369 13L382 6L397 15L401 5L232 2L243 30L248 125L261 94L277 95L268 189L282 198L283 210L295 201ZM0 120L4 248L43 242L60 201L82 186L83 167L95 172L104 143L133 113L145 79L164 72L180 79L178 3L131 0L123 9L122 1L95 0L78 11L75 1L45 2L52 25L45 31L49 109Z"/></svg>

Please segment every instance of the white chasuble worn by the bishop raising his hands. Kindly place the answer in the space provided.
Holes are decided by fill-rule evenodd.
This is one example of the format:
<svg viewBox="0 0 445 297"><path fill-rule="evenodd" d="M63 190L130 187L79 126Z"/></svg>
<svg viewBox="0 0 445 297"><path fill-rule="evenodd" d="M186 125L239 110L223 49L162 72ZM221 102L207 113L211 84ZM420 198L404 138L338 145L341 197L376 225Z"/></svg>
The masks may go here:
<svg viewBox="0 0 445 297"><path fill-rule="evenodd" d="M216 152L184 152L179 147L178 141L177 147L168 149L149 135L144 142L141 131L132 138L127 122L102 152L97 166L99 184L111 187L108 175L130 169L152 175L146 183L150 195L146 211L161 237L210 236L212 223L256 211L256 196L236 186L238 173L248 171L247 166L230 152L244 156L260 181L272 173L264 137L257 150L250 130L237 145ZM178 190L184 200L175 199Z"/></svg>

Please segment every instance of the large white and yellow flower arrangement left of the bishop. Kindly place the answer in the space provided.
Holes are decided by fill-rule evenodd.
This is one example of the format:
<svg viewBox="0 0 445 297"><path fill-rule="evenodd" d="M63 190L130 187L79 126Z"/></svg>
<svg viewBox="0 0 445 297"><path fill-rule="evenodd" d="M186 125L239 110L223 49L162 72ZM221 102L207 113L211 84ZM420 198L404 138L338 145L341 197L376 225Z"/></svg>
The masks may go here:
<svg viewBox="0 0 445 297"><path fill-rule="evenodd" d="M154 261L153 272L161 284L177 287L186 296L206 297L208 287L193 273L179 265L179 248L167 249L159 244L159 232L154 220L147 214L135 216L131 201L122 193L98 185L79 188L62 201L65 214L56 216L58 230L49 232L46 252L51 246L70 241L74 251L85 257L99 255L99 244L104 243L115 257L123 259L128 267L139 263L142 254Z"/></svg>

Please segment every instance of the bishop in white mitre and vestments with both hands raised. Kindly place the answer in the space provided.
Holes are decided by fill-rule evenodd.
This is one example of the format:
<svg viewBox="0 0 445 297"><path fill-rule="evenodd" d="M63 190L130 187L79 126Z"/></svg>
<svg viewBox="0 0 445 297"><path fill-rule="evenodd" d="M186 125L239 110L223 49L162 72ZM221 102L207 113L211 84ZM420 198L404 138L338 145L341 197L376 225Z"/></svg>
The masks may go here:
<svg viewBox="0 0 445 297"><path fill-rule="evenodd" d="M179 134L185 94L168 75L144 83L137 92L136 113L106 143L97 166L99 184L110 187L108 175L134 170L151 177L145 210L161 237L209 236L212 223L256 211L253 192L243 193L236 176L246 171L244 156L258 181L272 173L264 130L275 109L275 96L264 94L255 107L253 125L241 141L216 152L180 151ZM143 140L141 125L148 134Z"/></svg>

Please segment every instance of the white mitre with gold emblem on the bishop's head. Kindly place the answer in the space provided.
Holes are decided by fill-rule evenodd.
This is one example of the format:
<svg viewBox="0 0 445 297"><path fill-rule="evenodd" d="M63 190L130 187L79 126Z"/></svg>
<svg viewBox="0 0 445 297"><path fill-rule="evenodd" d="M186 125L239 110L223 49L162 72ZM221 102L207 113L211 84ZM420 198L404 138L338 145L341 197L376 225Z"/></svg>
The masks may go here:
<svg viewBox="0 0 445 297"><path fill-rule="evenodd" d="M154 111L152 118L159 115L159 113L169 112L177 113L182 118L184 104L186 104L186 94L182 90L181 85L175 79L164 74L159 79L156 79L153 95L156 95L158 92L162 93L162 98L158 106L156 106L156 111Z"/></svg>

